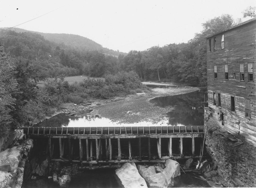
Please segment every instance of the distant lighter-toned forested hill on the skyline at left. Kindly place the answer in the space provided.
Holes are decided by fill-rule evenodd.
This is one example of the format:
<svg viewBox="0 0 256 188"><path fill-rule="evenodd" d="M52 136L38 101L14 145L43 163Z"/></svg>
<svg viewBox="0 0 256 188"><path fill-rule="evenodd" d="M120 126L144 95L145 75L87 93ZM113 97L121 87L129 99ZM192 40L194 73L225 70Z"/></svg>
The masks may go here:
<svg viewBox="0 0 256 188"><path fill-rule="evenodd" d="M5 30L8 28L0 28L0 30L2 29ZM63 43L67 46L80 48L81 50L85 50L85 51L97 50L100 53L105 53L105 54L114 55L114 56L119 56L120 54L126 55L126 53L123 53L123 52L118 52L118 51L111 50L109 48L104 48L102 47L102 45L98 44L97 42L94 42L91 39L88 39L86 37L79 36L79 35L65 34L65 33L41 33L36 31L28 31L20 28L11 28L9 30L15 31L17 33L22 33L22 32L37 33L44 36L46 40L49 40L58 44Z"/></svg>

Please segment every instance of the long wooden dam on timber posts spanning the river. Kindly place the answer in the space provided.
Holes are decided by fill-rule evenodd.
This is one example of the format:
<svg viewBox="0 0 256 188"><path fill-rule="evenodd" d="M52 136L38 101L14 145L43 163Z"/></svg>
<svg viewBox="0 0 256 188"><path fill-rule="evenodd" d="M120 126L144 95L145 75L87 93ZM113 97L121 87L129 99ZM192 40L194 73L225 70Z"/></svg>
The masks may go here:
<svg viewBox="0 0 256 188"><path fill-rule="evenodd" d="M204 126L22 129L26 137L40 141L51 161L79 163L82 169L115 168L125 162L197 158L204 136Z"/></svg>

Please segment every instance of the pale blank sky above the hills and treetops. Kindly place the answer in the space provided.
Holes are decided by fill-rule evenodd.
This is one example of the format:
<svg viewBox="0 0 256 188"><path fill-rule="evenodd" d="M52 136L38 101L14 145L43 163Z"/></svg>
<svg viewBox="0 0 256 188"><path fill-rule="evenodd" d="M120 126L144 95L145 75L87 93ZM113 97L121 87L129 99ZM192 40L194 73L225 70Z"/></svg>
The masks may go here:
<svg viewBox="0 0 256 188"><path fill-rule="evenodd" d="M256 1L0 0L0 27L23 23L17 28L76 34L128 53L186 43L200 33L202 23L222 14L246 21L242 11L248 6Z"/></svg>

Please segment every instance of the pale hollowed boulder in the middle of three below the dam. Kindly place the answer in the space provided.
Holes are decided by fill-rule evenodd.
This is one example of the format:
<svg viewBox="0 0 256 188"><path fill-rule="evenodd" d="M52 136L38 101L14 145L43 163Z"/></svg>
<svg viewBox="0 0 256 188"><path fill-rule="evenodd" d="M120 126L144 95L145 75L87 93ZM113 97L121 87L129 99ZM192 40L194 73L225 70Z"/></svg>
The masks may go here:
<svg viewBox="0 0 256 188"><path fill-rule="evenodd" d="M171 187L174 185L173 178L160 166L146 168L138 165L138 171L150 187Z"/></svg>

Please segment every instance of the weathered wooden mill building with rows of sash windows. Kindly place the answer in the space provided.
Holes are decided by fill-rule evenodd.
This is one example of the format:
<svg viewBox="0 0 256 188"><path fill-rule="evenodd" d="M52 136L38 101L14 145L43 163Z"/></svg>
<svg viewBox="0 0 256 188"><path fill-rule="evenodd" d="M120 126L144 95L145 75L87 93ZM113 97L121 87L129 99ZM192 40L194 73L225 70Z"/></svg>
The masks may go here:
<svg viewBox="0 0 256 188"><path fill-rule="evenodd" d="M207 37L209 111L219 126L256 146L256 18Z"/></svg>

